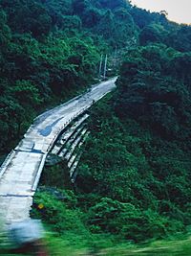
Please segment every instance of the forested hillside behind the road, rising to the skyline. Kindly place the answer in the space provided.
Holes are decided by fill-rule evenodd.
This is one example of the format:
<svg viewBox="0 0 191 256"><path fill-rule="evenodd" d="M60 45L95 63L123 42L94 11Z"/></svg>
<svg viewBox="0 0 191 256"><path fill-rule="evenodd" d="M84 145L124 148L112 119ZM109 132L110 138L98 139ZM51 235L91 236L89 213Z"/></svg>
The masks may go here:
<svg viewBox="0 0 191 256"><path fill-rule="evenodd" d="M190 38L189 26L128 1L1 0L1 153L11 149L37 113L93 82L100 54L112 57L116 49L124 53L150 42L185 53ZM183 61L189 61L186 57Z"/></svg>

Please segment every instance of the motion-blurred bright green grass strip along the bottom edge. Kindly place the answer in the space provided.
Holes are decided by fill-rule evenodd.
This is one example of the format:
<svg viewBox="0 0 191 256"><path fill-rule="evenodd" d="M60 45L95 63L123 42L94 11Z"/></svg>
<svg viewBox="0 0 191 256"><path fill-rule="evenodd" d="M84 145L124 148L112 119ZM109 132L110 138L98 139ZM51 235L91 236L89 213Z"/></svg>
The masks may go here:
<svg viewBox="0 0 191 256"><path fill-rule="evenodd" d="M47 229L47 228L46 228ZM45 246L50 256L190 256L191 236L176 235L168 240L155 241L148 244L121 242L111 235L86 234L82 236L67 231L61 236L52 231L46 232ZM11 244L5 234L0 235L0 255L19 256L32 254L16 254L11 252Z"/></svg>

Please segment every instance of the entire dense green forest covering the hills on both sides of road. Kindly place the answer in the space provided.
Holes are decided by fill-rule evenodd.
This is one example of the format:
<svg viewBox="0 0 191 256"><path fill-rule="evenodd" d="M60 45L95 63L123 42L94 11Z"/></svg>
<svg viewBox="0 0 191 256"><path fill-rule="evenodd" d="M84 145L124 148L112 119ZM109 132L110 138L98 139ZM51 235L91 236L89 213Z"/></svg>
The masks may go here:
<svg viewBox="0 0 191 256"><path fill-rule="evenodd" d="M60 181L65 163L46 167L32 217L95 251L189 234L191 27L123 0L0 7L2 153L37 113L96 81L100 54L114 68L118 53L117 90L90 109L74 187Z"/></svg>

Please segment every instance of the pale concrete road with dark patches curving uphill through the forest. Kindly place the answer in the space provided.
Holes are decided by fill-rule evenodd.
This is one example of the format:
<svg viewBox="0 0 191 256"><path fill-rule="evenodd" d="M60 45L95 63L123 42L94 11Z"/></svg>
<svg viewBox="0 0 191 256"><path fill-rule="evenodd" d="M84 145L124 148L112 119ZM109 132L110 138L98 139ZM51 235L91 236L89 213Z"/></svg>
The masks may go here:
<svg viewBox="0 0 191 256"><path fill-rule="evenodd" d="M32 197L45 159L58 133L80 112L113 90L114 78L94 85L91 90L63 105L49 110L34 120L11 157L0 169L0 218L3 222L30 218Z"/></svg>

